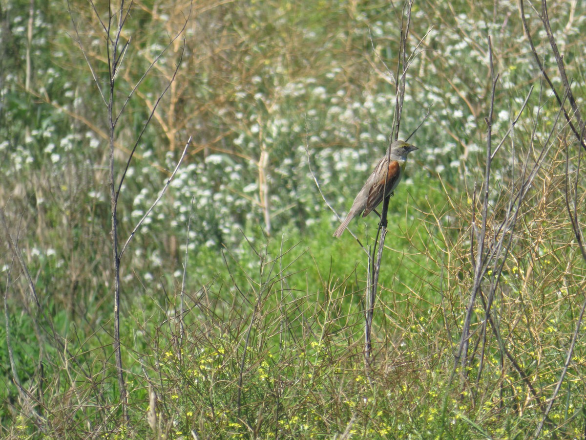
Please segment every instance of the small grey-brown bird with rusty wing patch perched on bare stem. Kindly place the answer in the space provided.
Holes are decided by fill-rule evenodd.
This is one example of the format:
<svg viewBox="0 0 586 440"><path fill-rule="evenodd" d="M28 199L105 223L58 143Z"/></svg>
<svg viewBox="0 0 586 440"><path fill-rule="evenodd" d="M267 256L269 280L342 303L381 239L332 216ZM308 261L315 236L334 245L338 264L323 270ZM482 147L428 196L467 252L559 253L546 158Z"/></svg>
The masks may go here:
<svg viewBox="0 0 586 440"><path fill-rule="evenodd" d="M393 141L389 145L387 154L381 158L372 174L367 178L366 183L354 199L348 215L338 226L333 236L341 236L350 221L360 212L363 212L362 216L366 217L383 201L383 197L391 197L394 194L395 188L405 173L407 154L418 149L401 140Z"/></svg>

